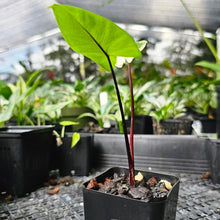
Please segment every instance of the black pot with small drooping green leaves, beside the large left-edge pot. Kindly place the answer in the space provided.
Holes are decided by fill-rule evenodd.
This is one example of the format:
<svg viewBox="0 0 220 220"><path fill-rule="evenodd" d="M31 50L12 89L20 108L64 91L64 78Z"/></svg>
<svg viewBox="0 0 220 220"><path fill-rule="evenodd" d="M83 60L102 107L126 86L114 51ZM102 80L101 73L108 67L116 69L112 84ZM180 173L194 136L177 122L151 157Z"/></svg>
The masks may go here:
<svg viewBox="0 0 220 220"><path fill-rule="evenodd" d="M93 163L93 136L80 133L80 140L71 148L71 132L66 132L61 146L54 146L53 169L59 169L61 176L88 176ZM73 172L72 172L73 171Z"/></svg>

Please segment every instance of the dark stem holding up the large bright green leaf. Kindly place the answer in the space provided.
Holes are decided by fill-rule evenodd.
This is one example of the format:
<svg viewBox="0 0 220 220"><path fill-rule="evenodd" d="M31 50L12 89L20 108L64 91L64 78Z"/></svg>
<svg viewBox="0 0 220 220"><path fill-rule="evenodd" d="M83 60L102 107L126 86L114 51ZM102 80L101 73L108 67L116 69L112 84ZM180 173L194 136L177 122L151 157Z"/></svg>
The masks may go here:
<svg viewBox="0 0 220 220"><path fill-rule="evenodd" d="M134 162L132 159L132 153L130 150L130 146L129 146L129 141L128 141L128 133L127 133L127 127L126 127L126 122L125 122L125 116L124 116L124 110L122 107L122 102L121 102L121 97L120 97L120 92L118 89L118 83L116 80L116 76L115 76L115 72L113 70L110 58L108 55L107 59L111 68L111 72L112 72L112 78L114 81L114 85L115 85L115 90L116 90L116 94L117 94L117 98L118 98L118 104L119 104L119 109L120 109L120 113L121 113L121 119L122 119L122 125L123 125L123 133L124 133L124 138L125 138L125 145L126 145L126 151L127 151L127 157L128 157L128 166L129 166L129 179L130 179L130 185L134 186L135 185L135 180L134 180Z"/></svg>

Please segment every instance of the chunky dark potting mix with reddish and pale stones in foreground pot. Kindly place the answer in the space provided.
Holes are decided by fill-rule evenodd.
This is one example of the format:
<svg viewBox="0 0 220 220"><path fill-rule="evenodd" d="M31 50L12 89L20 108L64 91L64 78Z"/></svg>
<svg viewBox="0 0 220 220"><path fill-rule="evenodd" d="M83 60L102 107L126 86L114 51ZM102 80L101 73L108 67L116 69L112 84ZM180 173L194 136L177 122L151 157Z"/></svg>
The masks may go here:
<svg viewBox="0 0 220 220"><path fill-rule="evenodd" d="M138 175L142 176L142 174ZM172 185L166 180L157 181L155 177L146 180L142 176L140 180L135 180L135 186L131 186L126 174L114 173L113 177L105 178L103 183L99 183L93 178L87 188L148 202L166 199Z"/></svg>

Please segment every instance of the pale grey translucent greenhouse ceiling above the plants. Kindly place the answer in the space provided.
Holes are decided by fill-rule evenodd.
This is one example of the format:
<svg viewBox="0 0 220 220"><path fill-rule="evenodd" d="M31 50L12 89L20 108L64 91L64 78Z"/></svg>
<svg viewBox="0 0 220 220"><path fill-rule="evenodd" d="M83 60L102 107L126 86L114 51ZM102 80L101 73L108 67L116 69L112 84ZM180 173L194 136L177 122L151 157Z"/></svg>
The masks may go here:
<svg viewBox="0 0 220 220"><path fill-rule="evenodd" d="M219 0L185 0L204 30L220 26ZM85 8L118 23L194 29L180 0L1 0L0 52L35 41L57 31L53 3Z"/></svg>

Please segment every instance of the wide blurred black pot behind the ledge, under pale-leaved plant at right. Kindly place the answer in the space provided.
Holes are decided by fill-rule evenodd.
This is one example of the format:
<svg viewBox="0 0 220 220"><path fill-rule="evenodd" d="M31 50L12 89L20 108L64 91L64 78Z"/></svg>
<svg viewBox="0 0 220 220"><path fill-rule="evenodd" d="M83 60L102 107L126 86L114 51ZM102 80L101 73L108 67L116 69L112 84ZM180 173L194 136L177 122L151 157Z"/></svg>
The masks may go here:
<svg viewBox="0 0 220 220"><path fill-rule="evenodd" d="M192 120L189 119L166 119L157 122L153 119L154 134L192 134Z"/></svg>

